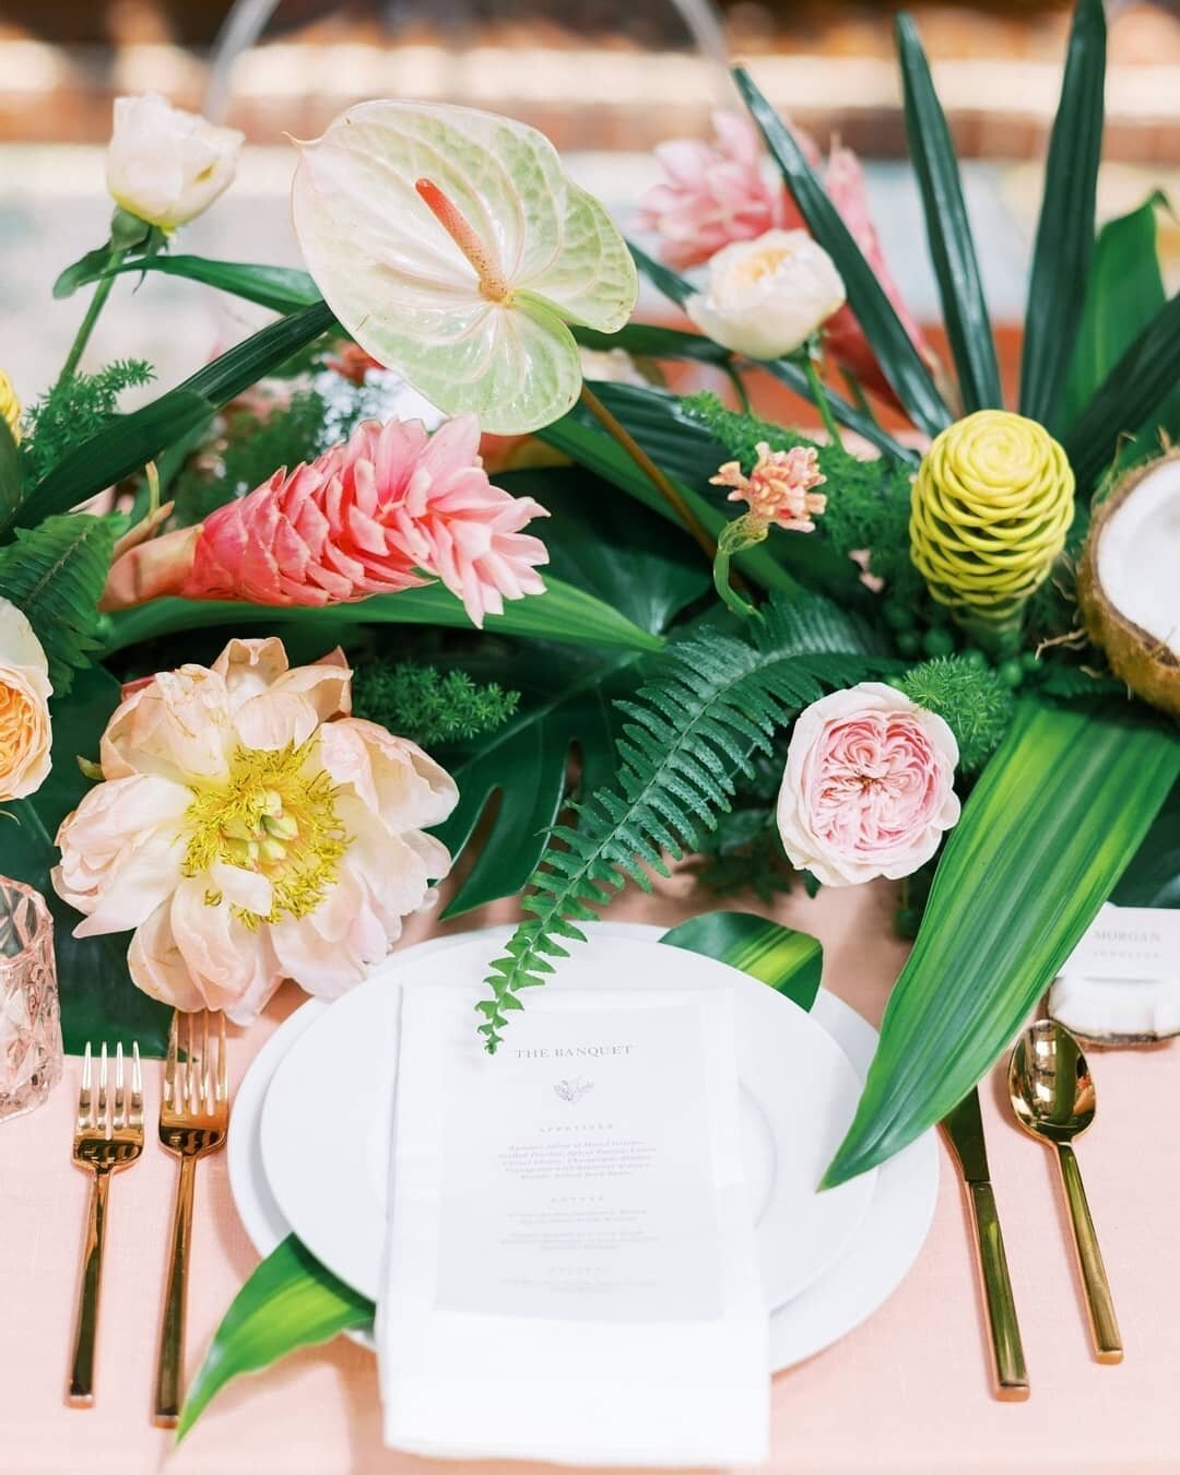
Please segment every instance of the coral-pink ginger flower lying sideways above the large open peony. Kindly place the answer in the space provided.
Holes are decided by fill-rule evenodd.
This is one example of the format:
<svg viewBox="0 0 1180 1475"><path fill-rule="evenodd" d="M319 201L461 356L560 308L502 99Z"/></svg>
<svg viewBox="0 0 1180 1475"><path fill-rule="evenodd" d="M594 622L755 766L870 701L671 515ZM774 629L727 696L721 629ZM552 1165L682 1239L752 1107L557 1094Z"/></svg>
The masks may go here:
<svg viewBox="0 0 1180 1475"><path fill-rule="evenodd" d="M440 578L472 624L504 599L540 594L549 555L521 530L547 516L493 487L475 416L428 435L419 420L376 420L296 466L276 471L201 527L145 543L111 571L103 608L181 594L257 605L353 603Z"/></svg>

